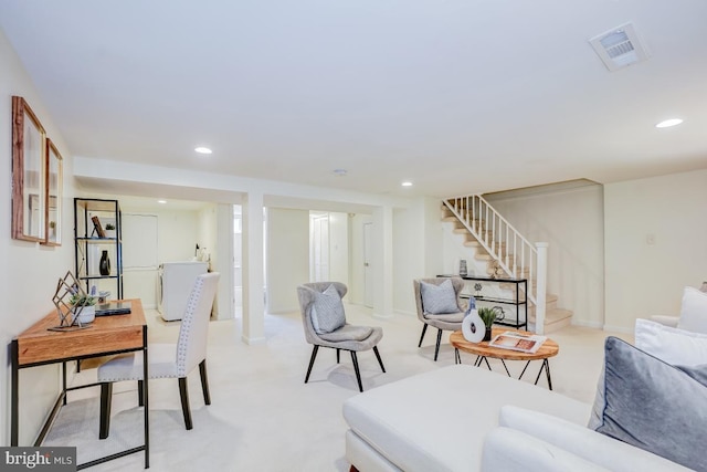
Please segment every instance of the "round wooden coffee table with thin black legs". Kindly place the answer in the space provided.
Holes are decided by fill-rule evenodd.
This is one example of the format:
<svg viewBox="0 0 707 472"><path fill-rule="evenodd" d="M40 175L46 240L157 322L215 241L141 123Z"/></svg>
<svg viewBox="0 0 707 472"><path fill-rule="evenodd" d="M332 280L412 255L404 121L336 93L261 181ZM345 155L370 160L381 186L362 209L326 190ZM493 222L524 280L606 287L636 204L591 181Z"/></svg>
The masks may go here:
<svg viewBox="0 0 707 472"><path fill-rule="evenodd" d="M493 328L492 329L492 339L497 335L506 332L531 335L532 333L520 331L520 329L508 329L508 328ZM548 378L548 388L552 390L552 379L550 377L550 363L549 358L557 356L560 352L560 347L550 338L547 338L545 343L540 346L538 350L535 353L523 353L519 350L504 349L500 347L489 346L487 340L482 343L469 343L464 338L464 335L461 331L455 331L450 335L450 343L454 346L454 363L462 364L462 357L460 356L460 350L465 353L476 355L476 361L474 366L479 367L482 363L486 363L488 370L492 370L490 365L488 364L488 358L499 359L506 369L506 374L510 377L510 373L508 371L508 367L506 367L506 360L525 360L526 366L523 368L518 380L523 378L523 375L526 373L526 369L530 365L530 360L542 360L542 365L540 366L540 370L538 371L538 376L535 378L535 385L538 385L538 380L540 379L540 375L545 369L545 374Z"/></svg>

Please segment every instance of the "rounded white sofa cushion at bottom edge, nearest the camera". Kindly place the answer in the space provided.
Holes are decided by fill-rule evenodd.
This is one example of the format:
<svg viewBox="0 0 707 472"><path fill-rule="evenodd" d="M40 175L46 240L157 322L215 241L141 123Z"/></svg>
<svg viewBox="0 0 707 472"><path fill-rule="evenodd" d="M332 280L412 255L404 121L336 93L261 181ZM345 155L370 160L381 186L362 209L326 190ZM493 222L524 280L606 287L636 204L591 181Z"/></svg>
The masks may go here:
<svg viewBox="0 0 707 472"><path fill-rule="evenodd" d="M494 429L484 441L481 472L518 471L609 472L613 469L604 469L531 434L510 428Z"/></svg>

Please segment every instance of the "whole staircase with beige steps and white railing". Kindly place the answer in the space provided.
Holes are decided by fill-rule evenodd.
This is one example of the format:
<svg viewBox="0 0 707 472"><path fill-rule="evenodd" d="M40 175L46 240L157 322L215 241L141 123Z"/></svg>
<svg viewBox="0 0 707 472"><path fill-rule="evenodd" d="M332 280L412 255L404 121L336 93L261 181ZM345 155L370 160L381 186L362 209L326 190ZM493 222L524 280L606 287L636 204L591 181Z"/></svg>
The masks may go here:
<svg viewBox="0 0 707 472"><path fill-rule="evenodd" d="M528 329L544 334L570 325L572 312L558 308L558 296L546 291L547 243L530 243L482 196L451 198L442 208L442 220L465 237L489 276L528 280Z"/></svg>

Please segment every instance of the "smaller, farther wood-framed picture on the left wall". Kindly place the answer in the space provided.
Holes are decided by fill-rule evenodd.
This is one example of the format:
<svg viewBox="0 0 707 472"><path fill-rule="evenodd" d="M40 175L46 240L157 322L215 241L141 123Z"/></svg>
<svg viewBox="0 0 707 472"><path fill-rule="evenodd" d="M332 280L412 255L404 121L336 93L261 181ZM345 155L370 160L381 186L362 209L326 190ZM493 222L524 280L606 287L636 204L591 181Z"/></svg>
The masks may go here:
<svg viewBox="0 0 707 472"><path fill-rule="evenodd" d="M62 201L64 160L54 143L46 138L46 200L44 203L44 244L62 244Z"/></svg>

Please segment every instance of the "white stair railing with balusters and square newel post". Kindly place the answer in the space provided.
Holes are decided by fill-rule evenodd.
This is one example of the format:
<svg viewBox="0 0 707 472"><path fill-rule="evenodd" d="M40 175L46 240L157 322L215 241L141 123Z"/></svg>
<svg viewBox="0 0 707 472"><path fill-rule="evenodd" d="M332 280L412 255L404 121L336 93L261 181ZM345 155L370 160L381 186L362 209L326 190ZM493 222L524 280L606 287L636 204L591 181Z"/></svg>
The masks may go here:
<svg viewBox="0 0 707 472"><path fill-rule="evenodd" d="M548 244L532 244L481 195L450 198L444 204L509 277L529 281L526 296L535 304L536 333L542 334Z"/></svg>

